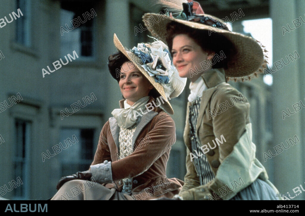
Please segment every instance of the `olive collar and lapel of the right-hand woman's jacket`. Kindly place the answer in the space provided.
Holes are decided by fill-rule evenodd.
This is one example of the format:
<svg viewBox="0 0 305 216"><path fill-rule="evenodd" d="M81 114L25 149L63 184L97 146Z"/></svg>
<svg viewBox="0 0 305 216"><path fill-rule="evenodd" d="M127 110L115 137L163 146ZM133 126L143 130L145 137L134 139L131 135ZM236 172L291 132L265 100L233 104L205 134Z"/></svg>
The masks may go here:
<svg viewBox="0 0 305 216"><path fill-rule="evenodd" d="M210 98L212 97L214 91L216 90L216 86L220 83L226 82L224 76L224 69L212 69L207 71L201 75L201 78L206 84L207 90L203 91L203 95L201 97L200 109L196 124L196 133L198 134L199 127L201 125L201 121L203 118L203 114L205 112L207 104L210 102Z"/></svg>

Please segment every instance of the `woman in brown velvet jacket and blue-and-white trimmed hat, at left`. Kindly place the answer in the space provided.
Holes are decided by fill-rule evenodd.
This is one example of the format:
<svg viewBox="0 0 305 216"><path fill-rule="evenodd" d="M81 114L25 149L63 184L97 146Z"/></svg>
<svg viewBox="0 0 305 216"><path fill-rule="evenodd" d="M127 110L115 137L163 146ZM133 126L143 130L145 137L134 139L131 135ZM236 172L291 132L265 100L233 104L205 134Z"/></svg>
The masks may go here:
<svg viewBox="0 0 305 216"><path fill-rule="evenodd" d="M63 177L52 200L171 198L182 188L183 181L166 177L176 141L167 113L174 114L169 100L183 91L186 79L179 77L163 42L129 50L114 35L114 44L118 52L109 56L108 67L124 100L102 128L90 169Z"/></svg>

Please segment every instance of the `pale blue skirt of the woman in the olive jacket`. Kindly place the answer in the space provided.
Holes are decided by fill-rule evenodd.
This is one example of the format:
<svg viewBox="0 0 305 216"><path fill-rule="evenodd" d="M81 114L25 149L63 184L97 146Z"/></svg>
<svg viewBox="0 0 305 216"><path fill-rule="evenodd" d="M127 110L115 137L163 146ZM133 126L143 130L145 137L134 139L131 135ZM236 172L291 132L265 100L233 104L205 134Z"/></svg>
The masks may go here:
<svg viewBox="0 0 305 216"><path fill-rule="evenodd" d="M279 200L279 198L267 182L257 178L230 200Z"/></svg>

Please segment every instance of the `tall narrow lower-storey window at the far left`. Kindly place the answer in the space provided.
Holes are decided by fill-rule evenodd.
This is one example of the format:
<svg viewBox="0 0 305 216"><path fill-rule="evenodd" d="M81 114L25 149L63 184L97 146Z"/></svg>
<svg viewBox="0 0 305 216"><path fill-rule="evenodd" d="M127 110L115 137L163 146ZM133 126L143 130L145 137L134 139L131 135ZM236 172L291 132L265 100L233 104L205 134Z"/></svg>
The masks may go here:
<svg viewBox="0 0 305 216"><path fill-rule="evenodd" d="M14 180L19 177L23 182L22 186L14 189L15 199L27 199L29 197L30 177L30 134L31 123L20 119L15 120L16 149L14 157Z"/></svg>

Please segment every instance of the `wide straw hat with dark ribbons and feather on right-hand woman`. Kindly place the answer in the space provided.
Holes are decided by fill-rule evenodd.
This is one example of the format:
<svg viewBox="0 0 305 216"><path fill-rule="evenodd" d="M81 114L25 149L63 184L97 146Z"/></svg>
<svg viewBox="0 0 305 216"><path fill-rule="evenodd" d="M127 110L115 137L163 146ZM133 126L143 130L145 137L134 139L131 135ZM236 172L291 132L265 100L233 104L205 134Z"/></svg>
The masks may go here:
<svg viewBox="0 0 305 216"><path fill-rule="evenodd" d="M167 38L167 24L174 21L188 27L199 30L216 32L217 34L226 37L235 47L235 53L230 53L230 60L228 61L228 68L225 69L227 80L250 80L253 76L258 76L259 73L264 72L267 67L267 50L257 40L229 31L224 19L219 19L215 16L205 14L198 2L192 0L160 0L159 3L163 6L175 9L176 13L179 10L181 3L180 14L173 16L171 13L167 16L156 13L145 13L142 17L145 26L152 33L152 35L166 43ZM182 3L183 2L183 3Z"/></svg>

